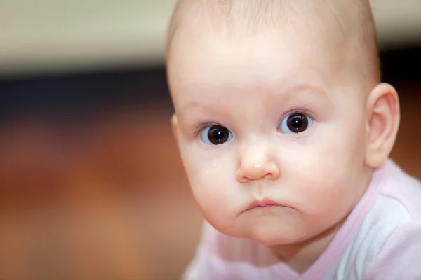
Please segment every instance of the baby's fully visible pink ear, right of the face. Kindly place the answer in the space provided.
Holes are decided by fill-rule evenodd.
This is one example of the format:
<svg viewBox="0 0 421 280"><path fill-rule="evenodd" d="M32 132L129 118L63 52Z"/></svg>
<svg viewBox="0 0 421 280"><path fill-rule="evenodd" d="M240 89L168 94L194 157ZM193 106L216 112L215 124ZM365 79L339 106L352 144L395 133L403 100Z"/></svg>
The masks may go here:
<svg viewBox="0 0 421 280"><path fill-rule="evenodd" d="M392 85L380 83L368 97L366 165L380 167L389 158L399 130L399 97Z"/></svg>

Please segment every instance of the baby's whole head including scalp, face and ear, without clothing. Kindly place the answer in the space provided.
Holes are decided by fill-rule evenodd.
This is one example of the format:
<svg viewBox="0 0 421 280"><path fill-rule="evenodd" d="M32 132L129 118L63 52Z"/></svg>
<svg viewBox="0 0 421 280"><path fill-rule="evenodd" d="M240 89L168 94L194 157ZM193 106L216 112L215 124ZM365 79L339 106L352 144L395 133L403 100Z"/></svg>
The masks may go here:
<svg viewBox="0 0 421 280"><path fill-rule="evenodd" d="M292 244L346 218L399 123L396 92L379 84L374 30L363 0L178 3L173 124L213 227Z"/></svg>

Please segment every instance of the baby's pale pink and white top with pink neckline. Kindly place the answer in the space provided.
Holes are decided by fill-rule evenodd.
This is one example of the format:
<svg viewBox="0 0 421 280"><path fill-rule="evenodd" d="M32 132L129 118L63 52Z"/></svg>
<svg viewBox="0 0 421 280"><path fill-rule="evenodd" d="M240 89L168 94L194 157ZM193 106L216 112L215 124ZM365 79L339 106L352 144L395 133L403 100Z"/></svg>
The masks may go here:
<svg viewBox="0 0 421 280"><path fill-rule="evenodd" d="M326 251L304 274L269 248L203 225L184 279L421 279L421 183L392 160L378 169Z"/></svg>

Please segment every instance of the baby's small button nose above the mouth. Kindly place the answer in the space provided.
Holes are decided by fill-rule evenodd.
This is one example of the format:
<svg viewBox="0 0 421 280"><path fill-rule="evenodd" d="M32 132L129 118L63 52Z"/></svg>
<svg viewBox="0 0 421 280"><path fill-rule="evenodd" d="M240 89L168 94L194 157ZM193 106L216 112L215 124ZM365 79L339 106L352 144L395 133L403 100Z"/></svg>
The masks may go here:
<svg viewBox="0 0 421 280"><path fill-rule="evenodd" d="M249 181L258 179L278 179L279 167L271 154L268 146L254 146L244 148L241 151L239 168L236 172L236 180L240 183L247 183Z"/></svg>

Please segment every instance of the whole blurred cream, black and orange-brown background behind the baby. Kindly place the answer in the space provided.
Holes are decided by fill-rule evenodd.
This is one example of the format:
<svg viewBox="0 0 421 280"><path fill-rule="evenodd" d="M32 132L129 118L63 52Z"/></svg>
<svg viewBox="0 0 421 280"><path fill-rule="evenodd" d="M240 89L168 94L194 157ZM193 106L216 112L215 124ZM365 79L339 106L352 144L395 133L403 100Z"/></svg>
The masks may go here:
<svg viewBox="0 0 421 280"><path fill-rule="evenodd" d="M0 0L0 279L178 279L201 215L169 120L174 0ZM373 0L421 178L421 1Z"/></svg>

